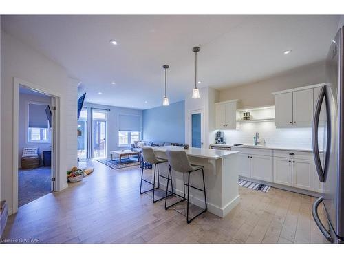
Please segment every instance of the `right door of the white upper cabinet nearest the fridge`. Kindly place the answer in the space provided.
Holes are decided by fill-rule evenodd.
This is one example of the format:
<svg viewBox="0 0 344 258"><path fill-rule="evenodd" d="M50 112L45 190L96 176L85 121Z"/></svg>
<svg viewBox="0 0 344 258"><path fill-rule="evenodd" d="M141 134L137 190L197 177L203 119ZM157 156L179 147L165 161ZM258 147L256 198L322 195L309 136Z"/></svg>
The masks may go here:
<svg viewBox="0 0 344 258"><path fill-rule="evenodd" d="M312 127L313 89L292 93L292 118L296 127Z"/></svg>

